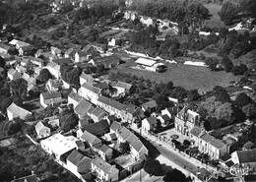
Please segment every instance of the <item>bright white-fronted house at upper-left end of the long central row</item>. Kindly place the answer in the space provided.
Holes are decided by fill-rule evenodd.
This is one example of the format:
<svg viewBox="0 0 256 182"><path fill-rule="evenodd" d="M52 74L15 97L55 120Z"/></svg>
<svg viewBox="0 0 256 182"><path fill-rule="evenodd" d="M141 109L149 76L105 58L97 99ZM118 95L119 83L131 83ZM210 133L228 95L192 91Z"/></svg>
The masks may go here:
<svg viewBox="0 0 256 182"><path fill-rule="evenodd" d="M101 91L91 84L84 83L78 91L79 95L96 104L97 98L101 95Z"/></svg>

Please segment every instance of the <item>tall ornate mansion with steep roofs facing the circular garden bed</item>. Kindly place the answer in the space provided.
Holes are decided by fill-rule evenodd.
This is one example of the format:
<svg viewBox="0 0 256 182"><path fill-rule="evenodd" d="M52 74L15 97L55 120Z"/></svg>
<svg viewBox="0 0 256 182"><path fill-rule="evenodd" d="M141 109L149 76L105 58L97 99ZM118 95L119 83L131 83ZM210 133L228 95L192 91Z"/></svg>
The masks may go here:
<svg viewBox="0 0 256 182"><path fill-rule="evenodd" d="M187 107L183 107L176 115L174 127L178 133L188 136L192 128L199 124L200 115Z"/></svg>

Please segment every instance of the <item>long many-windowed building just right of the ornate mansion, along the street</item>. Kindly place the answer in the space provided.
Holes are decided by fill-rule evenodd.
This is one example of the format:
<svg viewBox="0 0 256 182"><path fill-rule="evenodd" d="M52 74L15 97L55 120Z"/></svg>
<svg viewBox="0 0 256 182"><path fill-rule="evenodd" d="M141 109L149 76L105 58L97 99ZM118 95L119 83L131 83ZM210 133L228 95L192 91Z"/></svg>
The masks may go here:
<svg viewBox="0 0 256 182"><path fill-rule="evenodd" d="M225 153L229 153L229 146L223 141L206 133L205 129L195 126L190 132L190 140L200 152L207 153L211 158L219 159Z"/></svg>

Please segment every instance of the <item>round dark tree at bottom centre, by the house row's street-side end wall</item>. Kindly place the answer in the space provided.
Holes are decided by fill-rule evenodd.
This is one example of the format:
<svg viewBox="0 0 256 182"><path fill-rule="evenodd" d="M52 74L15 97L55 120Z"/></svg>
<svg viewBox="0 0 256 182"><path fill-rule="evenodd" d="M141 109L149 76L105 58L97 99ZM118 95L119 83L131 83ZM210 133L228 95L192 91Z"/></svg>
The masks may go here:
<svg viewBox="0 0 256 182"><path fill-rule="evenodd" d="M148 158L145 161L143 168L151 176L160 175L160 173L161 173L160 161L156 160L156 159L153 159L153 158Z"/></svg>

